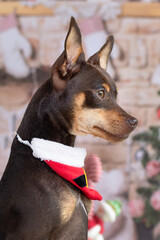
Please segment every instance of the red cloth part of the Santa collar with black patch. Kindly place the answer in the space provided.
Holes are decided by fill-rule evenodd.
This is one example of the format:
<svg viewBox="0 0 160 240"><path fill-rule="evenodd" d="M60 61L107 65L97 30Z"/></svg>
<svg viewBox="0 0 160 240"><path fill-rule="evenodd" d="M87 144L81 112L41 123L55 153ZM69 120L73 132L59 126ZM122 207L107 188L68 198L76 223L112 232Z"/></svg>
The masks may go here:
<svg viewBox="0 0 160 240"><path fill-rule="evenodd" d="M57 163L49 160L45 162L62 178L66 179L77 188L79 188L84 195L91 200L102 200L102 196L94 189L88 187L87 176L85 170L79 167L72 167L62 163Z"/></svg>

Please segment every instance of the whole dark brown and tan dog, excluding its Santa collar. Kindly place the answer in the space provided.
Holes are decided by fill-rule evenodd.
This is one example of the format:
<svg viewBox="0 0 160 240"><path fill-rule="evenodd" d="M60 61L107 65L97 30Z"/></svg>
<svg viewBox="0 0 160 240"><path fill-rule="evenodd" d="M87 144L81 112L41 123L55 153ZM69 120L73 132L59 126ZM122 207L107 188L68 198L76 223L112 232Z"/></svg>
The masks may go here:
<svg viewBox="0 0 160 240"><path fill-rule="evenodd" d="M22 139L74 146L76 135L92 134L111 142L128 137L137 120L116 103L117 88L106 73L112 47L110 36L85 61L80 30L71 18L64 52L18 129ZM79 189L14 139L0 182L0 240L86 240L89 205Z"/></svg>

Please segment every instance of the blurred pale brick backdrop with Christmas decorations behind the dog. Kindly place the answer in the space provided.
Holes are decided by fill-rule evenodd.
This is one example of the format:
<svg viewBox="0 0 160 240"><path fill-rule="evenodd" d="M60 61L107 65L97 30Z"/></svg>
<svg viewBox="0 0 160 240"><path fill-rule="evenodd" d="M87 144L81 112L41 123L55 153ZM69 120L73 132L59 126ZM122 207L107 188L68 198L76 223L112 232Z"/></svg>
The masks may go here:
<svg viewBox="0 0 160 240"><path fill-rule="evenodd" d="M105 223L106 240L160 239L160 2L0 1L0 177L28 102L63 51L70 17L83 36L86 59L113 34L108 72L118 103L139 121L130 138L111 144L92 136L76 146L99 157L97 188L118 199L122 213ZM95 207L96 214L96 207ZM98 240L94 238L93 240Z"/></svg>

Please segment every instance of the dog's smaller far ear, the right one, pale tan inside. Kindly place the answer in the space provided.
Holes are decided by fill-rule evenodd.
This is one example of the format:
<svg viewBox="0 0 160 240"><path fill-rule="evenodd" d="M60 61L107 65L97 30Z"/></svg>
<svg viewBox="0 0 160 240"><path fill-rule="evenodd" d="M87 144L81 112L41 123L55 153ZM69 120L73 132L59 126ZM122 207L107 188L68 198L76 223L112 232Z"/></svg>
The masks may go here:
<svg viewBox="0 0 160 240"><path fill-rule="evenodd" d="M91 56L88 59L88 62L94 65L99 65L101 66L101 68L103 68L106 71L107 65L108 65L108 59L112 51L113 44L114 44L114 38L112 35L110 35L107 38L106 43L103 45L103 47L97 53Z"/></svg>

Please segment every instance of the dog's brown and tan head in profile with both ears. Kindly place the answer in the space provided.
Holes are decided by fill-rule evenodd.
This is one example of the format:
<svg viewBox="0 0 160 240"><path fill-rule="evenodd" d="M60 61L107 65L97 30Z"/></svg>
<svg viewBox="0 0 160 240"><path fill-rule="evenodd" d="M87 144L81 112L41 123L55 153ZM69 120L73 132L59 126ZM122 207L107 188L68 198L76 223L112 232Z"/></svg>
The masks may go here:
<svg viewBox="0 0 160 240"><path fill-rule="evenodd" d="M71 18L64 52L52 66L52 85L72 135L92 134L119 142L137 125L137 119L116 103L118 90L106 72L113 44L113 36L109 36L86 61L80 30Z"/></svg>

